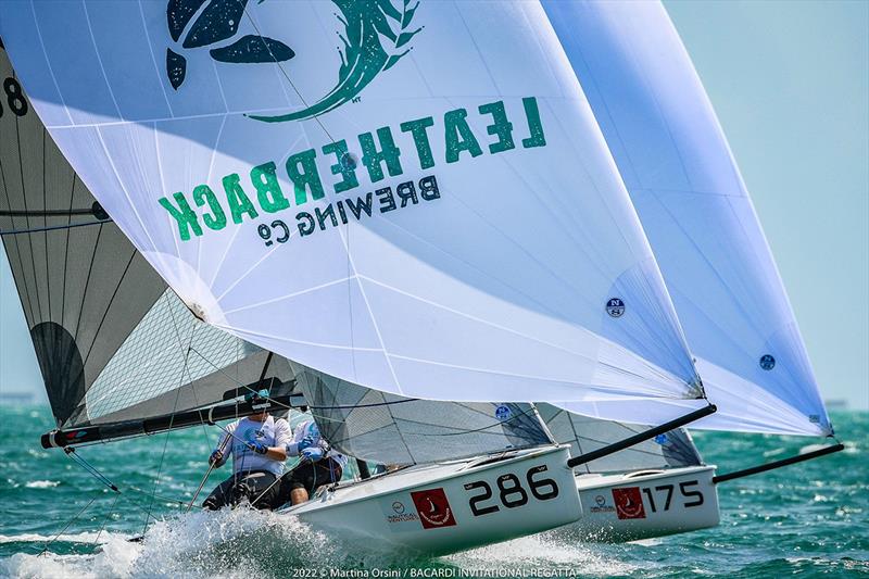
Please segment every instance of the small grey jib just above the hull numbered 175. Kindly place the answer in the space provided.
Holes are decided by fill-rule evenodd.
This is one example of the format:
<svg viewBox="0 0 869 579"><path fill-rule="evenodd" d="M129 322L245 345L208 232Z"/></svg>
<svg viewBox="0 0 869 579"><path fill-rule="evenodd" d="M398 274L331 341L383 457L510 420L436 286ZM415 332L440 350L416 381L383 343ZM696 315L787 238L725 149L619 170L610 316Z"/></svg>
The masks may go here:
<svg viewBox="0 0 869 579"><path fill-rule="evenodd" d="M564 411L552 404L537 404L540 417L557 442L570 444L579 456L626 439L651 427L601 420ZM587 473L627 473L647 468L676 468L702 464L700 452L684 428L670 430L630 449L577 467Z"/></svg>

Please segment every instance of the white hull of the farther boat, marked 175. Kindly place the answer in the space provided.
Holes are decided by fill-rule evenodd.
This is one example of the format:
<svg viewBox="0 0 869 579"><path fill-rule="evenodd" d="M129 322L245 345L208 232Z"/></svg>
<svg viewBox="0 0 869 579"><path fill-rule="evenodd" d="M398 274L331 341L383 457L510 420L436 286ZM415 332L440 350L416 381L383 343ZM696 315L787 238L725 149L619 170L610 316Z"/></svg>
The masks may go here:
<svg viewBox="0 0 869 579"><path fill-rule="evenodd" d="M578 475L581 514L554 531L581 541L622 542L715 527L715 466Z"/></svg>

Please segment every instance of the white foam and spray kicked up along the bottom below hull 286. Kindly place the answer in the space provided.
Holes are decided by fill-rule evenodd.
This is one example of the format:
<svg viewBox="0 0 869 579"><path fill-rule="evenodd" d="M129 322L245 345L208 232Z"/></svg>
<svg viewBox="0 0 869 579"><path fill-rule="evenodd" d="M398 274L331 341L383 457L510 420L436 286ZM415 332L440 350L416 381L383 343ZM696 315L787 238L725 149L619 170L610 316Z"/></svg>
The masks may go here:
<svg viewBox="0 0 869 579"><path fill-rule="evenodd" d="M96 533L62 536L61 541L93 542ZM311 528L294 516L238 508L217 513L175 515L151 526L141 543L104 531L101 546L90 555L45 556L17 554L0 563L0 576L106 578L230 578L287 577L293 568L386 569L455 567L467 570L570 569L581 575L634 572L638 568L614 559L600 545L583 545L542 536L440 557L414 558L377 551L370 541L344 540ZM50 540L41 534L0 536L0 542ZM4 572L5 571L5 572Z"/></svg>

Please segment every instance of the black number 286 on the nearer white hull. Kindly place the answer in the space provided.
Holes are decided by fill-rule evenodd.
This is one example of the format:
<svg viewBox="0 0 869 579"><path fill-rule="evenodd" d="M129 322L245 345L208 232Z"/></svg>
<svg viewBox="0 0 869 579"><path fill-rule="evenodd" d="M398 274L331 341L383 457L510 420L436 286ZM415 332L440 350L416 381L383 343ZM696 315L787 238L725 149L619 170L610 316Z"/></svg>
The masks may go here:
<svg viewBox="0 0 869 579"><path fill-rule="evenodd" d="M484 480L465 483L466 491L479 489L477 494L468 501L470 512L474 513L475 517L479 517L480 515L496 513L501 511L501 506L516 508L528 504L529 494L538 501L555 499L558 496L558 484L551 478L544 478L541 475L546 470L546 465L532 466L525 474L525 483L513 473L501 475L495 480L496 489L492 489L491 484ZM495 491L498 492L496 498Z"/></svg>

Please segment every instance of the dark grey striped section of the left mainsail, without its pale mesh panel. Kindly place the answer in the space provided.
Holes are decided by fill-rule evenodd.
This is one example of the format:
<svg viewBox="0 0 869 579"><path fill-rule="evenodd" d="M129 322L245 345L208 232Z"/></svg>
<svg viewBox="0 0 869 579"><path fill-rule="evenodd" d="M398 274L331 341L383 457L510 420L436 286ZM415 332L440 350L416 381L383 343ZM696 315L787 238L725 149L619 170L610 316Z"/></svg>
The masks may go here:
<svg viewBox="0 0 869 579"><path fill-rule="evenodd" d="M81 412L86 390L166 286L117 226L93 212L95 198L42 126L2 49L0 80L9 96L0 116L0 232L63 426Z"/></svg>

